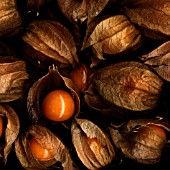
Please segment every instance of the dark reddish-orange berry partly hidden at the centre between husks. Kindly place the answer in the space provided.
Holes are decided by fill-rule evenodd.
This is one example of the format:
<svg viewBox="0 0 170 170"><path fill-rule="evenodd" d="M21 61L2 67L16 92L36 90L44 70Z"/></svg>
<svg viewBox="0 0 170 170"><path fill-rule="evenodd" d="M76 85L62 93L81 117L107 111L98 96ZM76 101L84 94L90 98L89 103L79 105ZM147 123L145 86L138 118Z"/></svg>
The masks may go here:
<svg viewBox="0 0 170 170"><path fill-rule="evenodd" d="M87 80L90 74L90 68L83 64L71 71L69 77L77 87L78 91L83 92L87 86Z"/></svg>

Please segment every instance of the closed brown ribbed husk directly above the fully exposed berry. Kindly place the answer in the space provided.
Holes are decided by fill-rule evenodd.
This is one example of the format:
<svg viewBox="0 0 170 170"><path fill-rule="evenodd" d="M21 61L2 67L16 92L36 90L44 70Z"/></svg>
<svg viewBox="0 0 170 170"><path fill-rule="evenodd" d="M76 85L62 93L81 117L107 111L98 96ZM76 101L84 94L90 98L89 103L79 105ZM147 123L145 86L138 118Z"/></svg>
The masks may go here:
<svg viewBox="0 0 170 170"><path fill-rule="evenodd" d="M75 67L79 63L71 32L51 20L34 20L22 36L27 57L43 66L55 64L58 68Z"/></svg>

